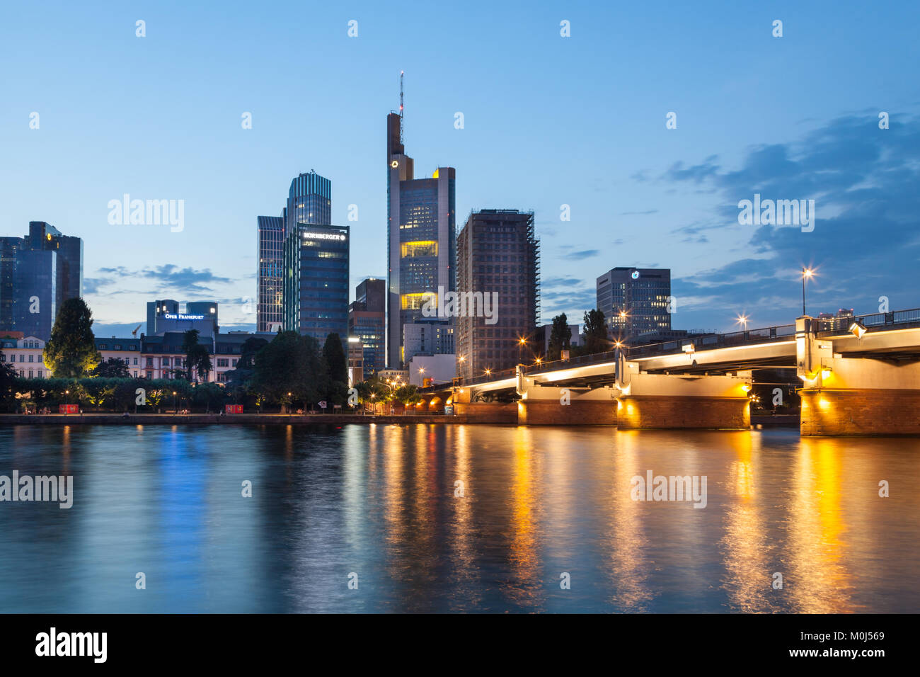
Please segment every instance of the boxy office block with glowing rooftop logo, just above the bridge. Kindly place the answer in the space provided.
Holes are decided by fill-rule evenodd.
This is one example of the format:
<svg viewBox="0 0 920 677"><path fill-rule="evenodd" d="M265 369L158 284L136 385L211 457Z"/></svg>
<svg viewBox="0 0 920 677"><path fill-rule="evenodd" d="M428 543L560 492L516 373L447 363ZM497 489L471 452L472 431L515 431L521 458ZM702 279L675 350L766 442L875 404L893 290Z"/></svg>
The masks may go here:
<svg viewBox="0 0 920 677"><path fill-rule="evenodd" d="M597 278L597 309L617 339L670 330L670 297L669 268L618 267Z"/></svg>

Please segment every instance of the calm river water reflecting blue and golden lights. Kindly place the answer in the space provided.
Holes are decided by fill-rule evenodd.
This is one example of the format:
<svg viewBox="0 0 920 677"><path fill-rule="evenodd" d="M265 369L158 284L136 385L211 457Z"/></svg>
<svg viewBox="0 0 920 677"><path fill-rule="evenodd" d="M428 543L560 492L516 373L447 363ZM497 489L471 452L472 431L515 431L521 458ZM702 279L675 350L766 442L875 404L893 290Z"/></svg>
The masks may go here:
<svg viewBox="0 0 920 677"><path fill-rule="evenodd" d="M916 613L918 459L785 429L0 426L0 475L74 478L69 509L0 502L0 612ZM705 508L634 500L649 471L705 476Z"/></svg>

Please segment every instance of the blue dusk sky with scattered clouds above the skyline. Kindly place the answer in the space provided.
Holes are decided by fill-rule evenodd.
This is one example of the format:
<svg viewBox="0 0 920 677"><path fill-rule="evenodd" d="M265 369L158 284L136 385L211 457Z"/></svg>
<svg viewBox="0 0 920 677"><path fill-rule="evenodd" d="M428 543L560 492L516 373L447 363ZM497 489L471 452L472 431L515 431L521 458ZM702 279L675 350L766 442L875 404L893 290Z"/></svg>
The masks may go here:
<svg viewBox="0 0 920 677"><path fill-rule="evenodd" d="M918 26L916 2L10 4L0 235L84 239L97 335L156 298L251 330L256 218L315 169L351 226L352 287L385 277L402 70L407 153L417 177L456 169L458 229L535 212L543 322L581 321L615 266L672 270L675 329L791 323L803 265L811 314L913 309ZM125 193L183 201L181 230L110 224ZM814 200L814 228L740 223L755 193Z"/></svg>

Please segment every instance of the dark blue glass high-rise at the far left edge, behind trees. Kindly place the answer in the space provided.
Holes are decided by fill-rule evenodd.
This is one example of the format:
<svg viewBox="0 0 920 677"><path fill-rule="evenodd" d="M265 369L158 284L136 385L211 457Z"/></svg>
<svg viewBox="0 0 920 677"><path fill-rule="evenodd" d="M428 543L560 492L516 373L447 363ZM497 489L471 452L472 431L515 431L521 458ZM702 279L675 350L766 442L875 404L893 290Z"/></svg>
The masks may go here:
<svg viewBox="0 0 920 677"><path fill-rule="evenodd" d="M63 302L82 295L82 239L44 221L29 221L22 238L0 238L0 329L47 341Z"/></svg>

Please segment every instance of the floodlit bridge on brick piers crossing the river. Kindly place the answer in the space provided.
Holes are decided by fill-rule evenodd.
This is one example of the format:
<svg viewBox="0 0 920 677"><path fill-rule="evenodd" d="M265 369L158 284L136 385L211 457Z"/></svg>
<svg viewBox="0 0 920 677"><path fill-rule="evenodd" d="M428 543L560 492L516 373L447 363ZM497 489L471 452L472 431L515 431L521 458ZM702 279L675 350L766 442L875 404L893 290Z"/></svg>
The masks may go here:
<svg viewBox="0 0 920 677"><path fill-rule="evenodd" d="M754 372L795 369L803 436L920 434L920 309L713 333L422 389L475 420L620 428L751 424Z"/></svg>

